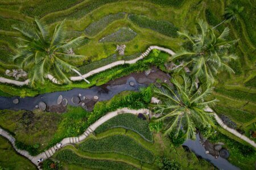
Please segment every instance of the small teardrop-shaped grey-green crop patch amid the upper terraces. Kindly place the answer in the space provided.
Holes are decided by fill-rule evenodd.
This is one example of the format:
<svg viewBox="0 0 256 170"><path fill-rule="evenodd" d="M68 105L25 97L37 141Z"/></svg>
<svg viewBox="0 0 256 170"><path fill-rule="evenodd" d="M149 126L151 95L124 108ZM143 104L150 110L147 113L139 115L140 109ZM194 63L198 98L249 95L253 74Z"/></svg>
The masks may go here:
<svg viewBox="0 0 256 170"><path fill-rule="evenodd" d="M133 31L131 28L122 27L119 28L118 31L103 37L100 42L126 42L133 40L134 37L137 35L136 32Z"/></svg>

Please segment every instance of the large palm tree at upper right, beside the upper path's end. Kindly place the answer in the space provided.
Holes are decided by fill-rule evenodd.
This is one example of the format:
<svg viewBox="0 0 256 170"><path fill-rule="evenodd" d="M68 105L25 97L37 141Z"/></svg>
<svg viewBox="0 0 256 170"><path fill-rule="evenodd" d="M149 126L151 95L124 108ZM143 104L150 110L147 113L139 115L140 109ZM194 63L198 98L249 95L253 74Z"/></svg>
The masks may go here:
<svg viewBox="0 0 256 170"><path fill-rule="evenodd" d="M214 75L219 70L234 73L227 63L237 57L234 54L228 54L228 50L237 40L226 40L229 35L228 27L217 36L203 20L199 20L198 25L200 29L198 35L191 36L187 31L177 32L180 37L184 37L191 43L192 48L191 50L181 49L172 57L172 61L180 58L189 61L184 66L192 67L192 74L196 78L205 78L207 84L212 84Z"/></svg>

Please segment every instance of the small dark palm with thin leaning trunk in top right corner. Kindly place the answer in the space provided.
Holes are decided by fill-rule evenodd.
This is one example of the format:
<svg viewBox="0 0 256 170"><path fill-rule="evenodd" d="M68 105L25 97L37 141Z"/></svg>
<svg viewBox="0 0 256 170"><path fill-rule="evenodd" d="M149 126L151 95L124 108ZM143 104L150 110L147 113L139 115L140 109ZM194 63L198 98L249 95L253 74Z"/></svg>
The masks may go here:
<svg viewBox="0 0 256 170"><path fill-rule="evenodd" d="M230 5L226 7L224 11L224 20L218 25L214 26L213 29L222 23L238 20L238 15L241 14L242 11L243 7L238 7L238 5Z"/></svg>

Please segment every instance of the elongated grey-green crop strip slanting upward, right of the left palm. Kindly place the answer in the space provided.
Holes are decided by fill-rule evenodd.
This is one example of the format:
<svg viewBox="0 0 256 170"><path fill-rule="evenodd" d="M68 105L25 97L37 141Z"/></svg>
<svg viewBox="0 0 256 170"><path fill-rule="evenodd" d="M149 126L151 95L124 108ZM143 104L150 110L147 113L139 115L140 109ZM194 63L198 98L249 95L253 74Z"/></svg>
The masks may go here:
<svg viewBox="0 0 256 170"><path fill-rule="evenodd" d="M86 35L89 35L89 36L97 35L97 33L101 32L110 23L114 22L115 20L123 19L123 18L125 18L125 12L110 14L98 20L97 22L90 24L87 28L85 28L84 32Z"/></svg>

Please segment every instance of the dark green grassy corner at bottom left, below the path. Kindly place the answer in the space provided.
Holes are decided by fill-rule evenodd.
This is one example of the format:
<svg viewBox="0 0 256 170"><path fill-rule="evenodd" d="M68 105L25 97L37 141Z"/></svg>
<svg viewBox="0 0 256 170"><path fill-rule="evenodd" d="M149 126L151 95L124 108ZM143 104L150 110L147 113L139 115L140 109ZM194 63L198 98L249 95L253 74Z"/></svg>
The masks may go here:
<svg viewBox="0 0 256 170"><path fill-rule="evenodd" d="M0 155L0 169L36 169L30 160L18 155L3 137L0 137Z"/></svg>

